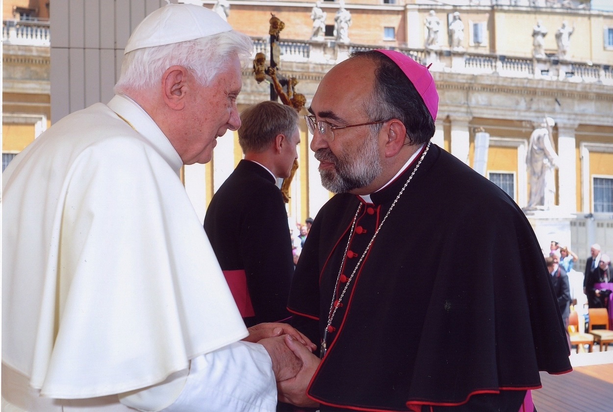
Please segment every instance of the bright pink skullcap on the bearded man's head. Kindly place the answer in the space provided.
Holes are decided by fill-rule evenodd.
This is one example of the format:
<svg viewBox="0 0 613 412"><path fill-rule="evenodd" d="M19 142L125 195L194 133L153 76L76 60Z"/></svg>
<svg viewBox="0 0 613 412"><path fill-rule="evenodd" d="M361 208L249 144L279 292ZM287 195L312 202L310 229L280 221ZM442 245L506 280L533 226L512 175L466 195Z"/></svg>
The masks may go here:
<svg viewBox="0 0 613 412"><path fill-rule="evenodd" d="M434 79L430 74L430 70L417 63L406 54L398 51L384 49L377 49L375 51L385 54L400 67L400 70L405 73L406 77L417 89L419 96L424 100L425 107L428 108L432 119L436 120L436 113L438 112L438 92L436 92L436 85L434 84Z"/></svg>

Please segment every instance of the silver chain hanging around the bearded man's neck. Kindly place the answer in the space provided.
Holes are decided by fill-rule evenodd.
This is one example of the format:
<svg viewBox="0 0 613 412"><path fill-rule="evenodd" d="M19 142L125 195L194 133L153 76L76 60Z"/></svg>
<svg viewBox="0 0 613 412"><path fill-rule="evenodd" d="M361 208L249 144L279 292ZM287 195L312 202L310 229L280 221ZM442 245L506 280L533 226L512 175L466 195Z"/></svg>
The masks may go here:
<svg viewBox="0 0 613 412"><path fill-rule="evenodd" d="M425 157L426 153L428 152L428 149L430 149L430 142L429 141L428 141L428 145L426 146L426 148L424 150L424 153L422 153L421 157L419 158L419 162L417 162L416 167L413 169L413 173L411 173L411 176L409 176L409 178L407 179L405 185L403 185L402 189L400 189L400 192L398 192L398 196L392 202L392 206L390 206L389 209L387 210L387 213L383 217L383 220L381 220L381 223L379 223L379 227L375 231L375 234L373 234L373 237L370 239L370 242L368 242L368 245L366 246L366 249L364 250L364 253L362 253L362 256L360 257L360 260L357 261L356 267L351 272L351 276L349 276L349 279L347 280L347 283L345 283L345 288L343 288L343 291L341 292L341 296L339 296L338 299L334 299L335 296L337 296L338 282L339 282L339 280L341 278L341 273L343 272L343 266L345 266L345 259L347 258L347 252L349 250L349 244L351 244L351 239L353 238L354 228L356 227L357 215L359 214L360 210L362 209L362 202L360 202L360 204L357 206L356 215L354 215L353 223L351 223L351 232L349 233L349 239L347 240L347 245L345 247L345 254L343 255L343 261L341 261L341 266L338 269L337 282L334 285L334 291L332 293L332 302L330 302L330 310L328 312L328 324L326 325L326 329L324 330L324 342L322 342L321 358L324 357L324 354L326 354L326 350L327 350L326 349L326 346L327 346L327 343L326 343L327 330L332 325L332 320L334 319L334 315L337 314L337 309L340 307L340 303L343 300L343 296L345 296L345 292L349 288L349 283L351 283L351 280L353 279L354 275L356 274L357 269L360 267L360 263L362 263L362 260L364 260L364 258L366 257L366 255L368 253L368 250L370 250L370 246L373 244L373 241L375 241L375 238L376 238L377 234L379 233L379 230L381 230L381 227L383 227L383 223L385 223L385 221L387 219L387 216L389 216L389 214L392 211L392 209L394 209L394 206L395 206L396 202L398 201L398 199L400 198L400 195L402 195L402 193L406 189L406 186L409 184L411 179L413 179L413 176L414 176L415 172L417 171L417 169L419 168L419 165L421 165L422 160L424 160L424 157ZM337 302L337 304L335 305L334 302Z"/></svg>

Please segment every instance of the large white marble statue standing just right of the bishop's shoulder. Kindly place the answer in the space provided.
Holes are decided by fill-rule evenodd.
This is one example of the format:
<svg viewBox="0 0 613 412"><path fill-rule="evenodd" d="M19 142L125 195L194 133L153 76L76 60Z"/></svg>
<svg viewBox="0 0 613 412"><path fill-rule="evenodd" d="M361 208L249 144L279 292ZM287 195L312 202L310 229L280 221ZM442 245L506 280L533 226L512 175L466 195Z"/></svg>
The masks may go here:
<svg viewBox="0 0 613 412"><path fill-rule="evenodd" d="M530 198L526 209L549 210L554 206L554 171L560 161L552 140L554 119L545 118L530 135L526 165L530 179Z"/></svg>

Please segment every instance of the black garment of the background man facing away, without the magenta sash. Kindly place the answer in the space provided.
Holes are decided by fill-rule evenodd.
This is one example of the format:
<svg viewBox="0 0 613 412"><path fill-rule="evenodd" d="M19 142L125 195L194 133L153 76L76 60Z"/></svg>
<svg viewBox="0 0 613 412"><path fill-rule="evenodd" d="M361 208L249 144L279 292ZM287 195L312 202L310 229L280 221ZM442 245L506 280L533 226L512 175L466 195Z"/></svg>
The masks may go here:
<svg viewBox="0 0 613 412"><path fill-rule="evenodd" d="M243 317L245 324L287 320L294 260L285 203L272 174L241 160L213 196L204 228L226 277L245 271L255 314Z"/></svg>

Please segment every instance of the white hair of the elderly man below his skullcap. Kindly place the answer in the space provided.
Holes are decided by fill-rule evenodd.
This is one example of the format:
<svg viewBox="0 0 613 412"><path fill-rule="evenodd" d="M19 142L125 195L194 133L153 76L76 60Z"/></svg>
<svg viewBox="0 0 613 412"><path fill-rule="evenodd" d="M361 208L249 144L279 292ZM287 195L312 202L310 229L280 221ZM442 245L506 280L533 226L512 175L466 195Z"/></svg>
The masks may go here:
<svg viewBox="0 0 613 412"><path fill-rule="evenodd" d="M186 42L133 50L124 56L114 91L129 96L131 92L156 88L166 69L171 66L185 67L200 84L207 86L233 56L246 61L252 51L251 39L234 30Z"/></svg>

